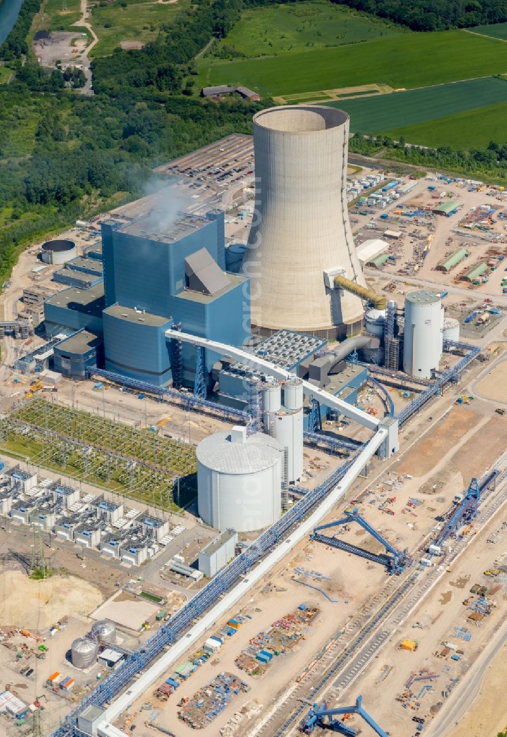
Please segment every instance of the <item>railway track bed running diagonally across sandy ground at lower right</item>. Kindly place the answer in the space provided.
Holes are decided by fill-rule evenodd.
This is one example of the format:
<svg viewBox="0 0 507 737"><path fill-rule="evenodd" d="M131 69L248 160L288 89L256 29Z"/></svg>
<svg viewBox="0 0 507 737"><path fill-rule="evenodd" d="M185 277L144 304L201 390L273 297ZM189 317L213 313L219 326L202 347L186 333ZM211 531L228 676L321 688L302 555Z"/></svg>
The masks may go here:
<svg viewBox="0 0 507 737"><path fill-rule="evenodd" d="M500 464L506 458L507 454L499 458ZM500 474L495 486L483 494L483 512L474 523L477 531L489 523L497 510L506 503L506 480L507 470ZM324 695L331 703L336 702L389 641L397 627L403 624L411 611L439 582L445 568L464 552L474 537L458 540L452 555L442 559L441 565L430 568L419 565L401 584L400 579L390 578L386 581L369 604L347 625L346 632L336 633L336 640L327 647L315 668L302 674L298 682L286 692L286 698L279 699L258 727L252 730L252 736L286 737L293 733L308 711L308 702L319 701ZM427 545L428 542L423 543L422 549L419 548L415 554L425 552ZM395 588L397 584L400 585ZM374 612L386 596L387 601L365 623L365 617ZM344 635L347 632L350 636L344 645Z"/></svg>

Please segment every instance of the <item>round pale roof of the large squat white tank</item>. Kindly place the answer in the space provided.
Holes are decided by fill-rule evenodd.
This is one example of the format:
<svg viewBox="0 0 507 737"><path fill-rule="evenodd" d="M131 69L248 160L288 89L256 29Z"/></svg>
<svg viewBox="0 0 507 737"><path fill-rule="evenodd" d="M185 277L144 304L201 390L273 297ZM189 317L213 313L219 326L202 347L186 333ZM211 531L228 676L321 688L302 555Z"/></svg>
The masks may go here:
<svg viewBox="0 0 507 737"><path fill-rule="evenodd" d="M212 471L246 474L271 468L280 458L281 447L274 438L255 433L243 441L234 441L234 430L214 433L202 440L196 449L199 463Z"/></svg>

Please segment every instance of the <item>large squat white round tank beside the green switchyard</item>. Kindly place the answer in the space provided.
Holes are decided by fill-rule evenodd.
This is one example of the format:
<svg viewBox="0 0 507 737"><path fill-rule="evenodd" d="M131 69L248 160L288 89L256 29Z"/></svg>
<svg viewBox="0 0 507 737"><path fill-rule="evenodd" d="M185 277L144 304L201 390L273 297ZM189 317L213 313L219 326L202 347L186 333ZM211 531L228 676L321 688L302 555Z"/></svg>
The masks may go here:
<svg viewBox="0 0 507 737"><path fill-rule="evenodd" d="M199 517L217 530L252 532L272 525L281 511L280 444L245 427L202 440L197 455Z"/></svg>

